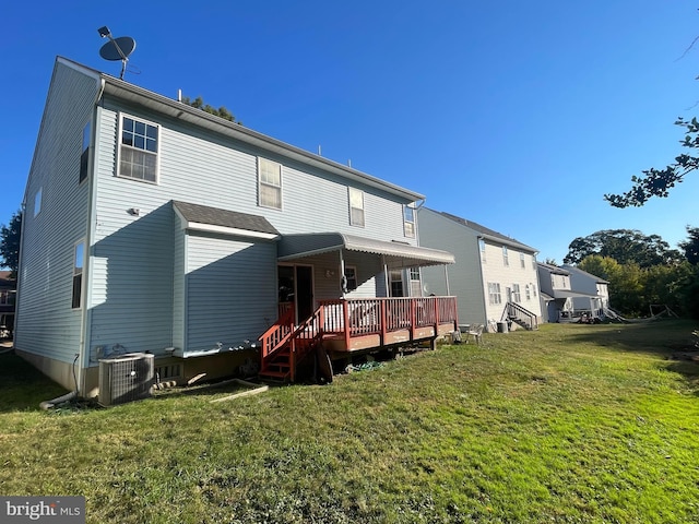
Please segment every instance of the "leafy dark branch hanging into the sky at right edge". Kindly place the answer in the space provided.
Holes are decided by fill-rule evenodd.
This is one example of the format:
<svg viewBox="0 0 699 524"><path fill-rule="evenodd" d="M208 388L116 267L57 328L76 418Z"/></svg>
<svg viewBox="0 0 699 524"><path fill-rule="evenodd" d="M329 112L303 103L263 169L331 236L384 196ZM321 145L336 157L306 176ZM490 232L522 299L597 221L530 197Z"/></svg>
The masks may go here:
<svg viewBox="0 0 699 524"><path fill-rule="evenodd" d="M685 128L685 140L680 141L683 147L695 150L699 147L699 121L677 119L676 126ZM605 194L604 200L614 207L641 206L652 196L665 198L670 189L682 182L687 174L699 167L699 157L682 154L675 157L675 162L663 169L651 167L642 171L643 176L631 177L633 186L623 194Z"/></svg>

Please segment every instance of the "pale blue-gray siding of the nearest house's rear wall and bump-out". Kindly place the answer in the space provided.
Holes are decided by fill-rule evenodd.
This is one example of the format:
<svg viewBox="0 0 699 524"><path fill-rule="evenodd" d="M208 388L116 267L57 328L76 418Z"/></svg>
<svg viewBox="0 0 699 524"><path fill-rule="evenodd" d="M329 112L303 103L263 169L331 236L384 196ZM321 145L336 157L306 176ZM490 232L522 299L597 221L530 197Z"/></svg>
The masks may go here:
<svg viewBox="0 0 699 524"><path fill-rule="evenodd" d="M156 184L116 176L121 109L161 124ZM212 239L208 242L213 243L200 245L202 239L191 235L179 238L177 233L173 243L171 200L261 215L282 234L332 230L416 245L403 236L403 202L380 190L359 187L365 191L366 227L354 227L348 218L347 184L334 175L301 168L209 131L123 108L114 100L105 100L99 115L92 346L119 343L130 350L153 353L171 345L206 350L216 342L253 340L276 319L275 246L259 243L244 249L229 240L216 243ZM258 155L283 165L282 210L258 205ZM140 216L129 215L131 207L139 209ZM187 241L187 246L178 241ZM183 253L188 265L200 264L191 258L199 248L204 249L200 255L209 270L200 267L192 273L191 267L178 265ZM115 271L117 261L120 271ZM127 267L129 271L123 271ZM379 271L370 267L370 272ZM360 270L360 274L365 272ZM186 284L180 279L183 274ZM240 279L240 275L246 276ZM337 296L339 285L327 282L324 272L315 276L320 296ZM378 285L384 287L382 279ZM211 293L225 286L236 291L210 300ZM370 278L353 296L376 294L377 283Z"/></svg>

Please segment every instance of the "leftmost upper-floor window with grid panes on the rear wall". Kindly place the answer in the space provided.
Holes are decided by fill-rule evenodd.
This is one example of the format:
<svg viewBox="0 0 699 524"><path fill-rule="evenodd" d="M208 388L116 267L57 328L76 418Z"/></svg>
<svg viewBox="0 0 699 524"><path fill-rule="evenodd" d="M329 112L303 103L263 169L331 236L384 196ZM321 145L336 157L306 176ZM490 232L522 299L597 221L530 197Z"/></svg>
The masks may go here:
<svg viewBox="0 0 699 524"><path fill-rule="evenodd" d="M119 176L157 181L159 128L131 117L121 117Z"/></svg>

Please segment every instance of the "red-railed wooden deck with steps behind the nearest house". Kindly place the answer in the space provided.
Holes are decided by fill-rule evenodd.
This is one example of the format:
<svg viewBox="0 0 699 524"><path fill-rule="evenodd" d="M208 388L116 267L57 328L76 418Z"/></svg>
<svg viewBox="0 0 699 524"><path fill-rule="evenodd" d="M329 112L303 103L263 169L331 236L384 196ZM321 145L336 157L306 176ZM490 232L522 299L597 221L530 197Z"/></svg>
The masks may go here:
<svg viewBox="0 0 699 524"><path fill-rule="evenodd" d="M296 366L319 347L331 358L434 341L458 329L455 297L323 300L299 325L293 311L261 337L262 377L294 381Z"/></svg>

